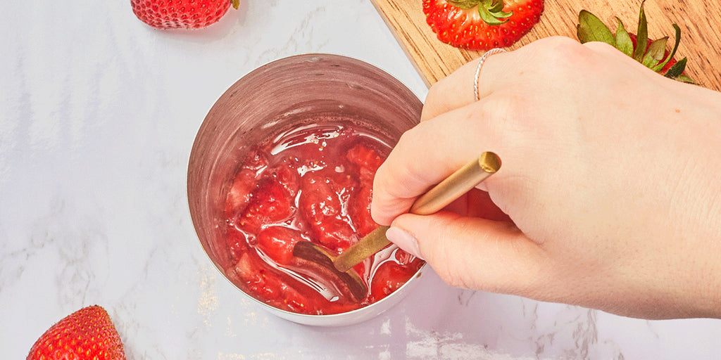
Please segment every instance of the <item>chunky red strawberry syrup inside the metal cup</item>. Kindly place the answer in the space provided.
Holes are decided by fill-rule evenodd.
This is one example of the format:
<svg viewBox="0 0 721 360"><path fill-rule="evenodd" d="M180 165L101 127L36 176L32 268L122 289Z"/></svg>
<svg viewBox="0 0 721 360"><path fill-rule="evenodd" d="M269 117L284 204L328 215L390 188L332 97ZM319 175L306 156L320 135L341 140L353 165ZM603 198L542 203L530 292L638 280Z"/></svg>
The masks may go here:
<svg viewBox="0 0 721 360"><path fill-rule="evenodd" d="M378 226L373 176L389 152L361 125L327 119L252 148L226 194L229 279L257 300L312 315L364 307L401 287L423 261L394 246L355 266L368 287L360 301L293 261L298 241L337 255Z"/></svg>

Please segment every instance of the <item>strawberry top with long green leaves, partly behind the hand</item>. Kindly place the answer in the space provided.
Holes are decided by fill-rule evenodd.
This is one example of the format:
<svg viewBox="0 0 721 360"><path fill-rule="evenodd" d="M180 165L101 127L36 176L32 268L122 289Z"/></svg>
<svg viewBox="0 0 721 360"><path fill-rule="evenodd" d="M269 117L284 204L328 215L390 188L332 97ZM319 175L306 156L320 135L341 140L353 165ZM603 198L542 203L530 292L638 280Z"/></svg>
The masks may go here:
<svg viewBox="0 0 721 360"><path fill-rule="evenodd" d="M609 27L606 27L596 15L586 10L581 10L580 13L578 13L578 25L576 25L578 40L581 43L590 41L606 42L657 73L661 73L668 78L673 78L678 81L694 84L694 81L684 73L686 69L686 58L678 61L673 58L673 55L676 55L678 43L681 41L681 28L679 28L677 24L673 24L673 29L676 30L676 43L673 45L673 50L668 51L666 50L668 37L661 37L658 40L650 40L648 38L647 21L646 14L643 11L643 3L641 3L636 34L627 32L621 19L618 17L616 17L616 21L618 22L618 27L616 27L616 32L614 33L611 32ZM645 46L639 46L639 43L645 44Z"/></svg>

